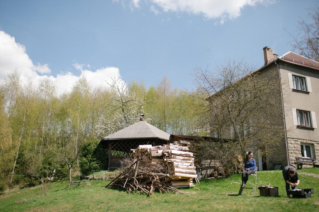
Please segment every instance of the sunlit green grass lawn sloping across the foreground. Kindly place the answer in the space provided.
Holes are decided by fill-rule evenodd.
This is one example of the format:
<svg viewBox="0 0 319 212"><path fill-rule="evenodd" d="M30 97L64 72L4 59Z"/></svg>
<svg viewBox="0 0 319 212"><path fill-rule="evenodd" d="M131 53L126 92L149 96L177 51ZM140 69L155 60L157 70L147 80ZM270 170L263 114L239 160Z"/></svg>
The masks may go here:
<svg viewBox="0 0 319 212"><path fill-rule="evenodd" d="M237 195L241 177L235 174L227 179L202 180L195 188L181 189L185 194L155 193L154 196L127 194L125 191L101 188L109 181L85 180L80 185L67 187L67 181L51 184L49 194L43 196L41 187L14 188L0 195L0 211L319 211L319 168L304 168L300 173L299 188L314 188L308 199L286 197L281 170L258 172L257 187L279 187L279 197ZM247 187L253 187L250 178ZM198 189L199 190L198 190ZM15 202L25 203L14 204Z"/></svg>

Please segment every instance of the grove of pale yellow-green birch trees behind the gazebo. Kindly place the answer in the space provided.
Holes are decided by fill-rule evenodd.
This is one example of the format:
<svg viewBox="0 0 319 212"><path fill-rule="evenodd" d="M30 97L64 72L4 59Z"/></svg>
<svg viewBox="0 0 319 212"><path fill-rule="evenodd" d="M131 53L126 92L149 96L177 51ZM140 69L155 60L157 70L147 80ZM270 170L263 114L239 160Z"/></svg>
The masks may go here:
<svg viewBox="0 0 319 212"><path fill-rule="evenodd" d="M186 90L173 89L167 78L148 89L143 82L116 79L92 87L80 78L70 92L58 95L49 79L35 87L22 83L18 71L1 81L0 191L9 184L44 185L40 179L52 170L55 178L68 177L70 183L72 170L79 170L82 143L90 138L97 145L139 121L141 113L167 133L199 135L196 99Z"/></svg>

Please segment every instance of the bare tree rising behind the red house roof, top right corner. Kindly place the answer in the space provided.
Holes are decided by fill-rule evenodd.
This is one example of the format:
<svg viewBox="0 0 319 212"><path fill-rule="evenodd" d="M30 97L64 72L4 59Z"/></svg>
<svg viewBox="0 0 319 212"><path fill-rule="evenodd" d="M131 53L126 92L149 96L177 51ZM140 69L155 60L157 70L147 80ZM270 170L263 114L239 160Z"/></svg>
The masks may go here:
<svg viewBox="0 0 319 212"><path fill-rule="evenodd" d="M294 50L300 51L300 54L307 58L319 61L319 6L308 9L308 16L312 20L311 23L300 18L298 33L289 34L293 38Z"/></svg>

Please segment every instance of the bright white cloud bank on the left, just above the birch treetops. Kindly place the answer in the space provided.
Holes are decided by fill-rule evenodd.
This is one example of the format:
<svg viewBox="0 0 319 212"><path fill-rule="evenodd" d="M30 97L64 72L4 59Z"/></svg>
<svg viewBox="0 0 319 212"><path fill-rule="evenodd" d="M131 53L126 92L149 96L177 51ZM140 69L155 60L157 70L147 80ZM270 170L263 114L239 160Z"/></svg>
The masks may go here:
<svg viewBox="0 0 319 212"><path fill-rule="evenodd" d="M61 72L56 76L39 75L48 74L51 70L48 64L34 65L32 60L26 54L25 46L16 43L14 37L4 31L0 31L0 80L7 77L8 73L18 70L21 73L22 82L32 81L33 85L37 86L39 80L49 78L57 88L58 94L68 92L72 89L74 83L82 76L85 76L92 87L99 85L107 85L111 83L112 78L121 79L120 71L117 67L103 67L95 71L86 70L85 67L91 68L89 64L73 64L73 66L81 71L80 76L76 76L71 72Z"/></svg>

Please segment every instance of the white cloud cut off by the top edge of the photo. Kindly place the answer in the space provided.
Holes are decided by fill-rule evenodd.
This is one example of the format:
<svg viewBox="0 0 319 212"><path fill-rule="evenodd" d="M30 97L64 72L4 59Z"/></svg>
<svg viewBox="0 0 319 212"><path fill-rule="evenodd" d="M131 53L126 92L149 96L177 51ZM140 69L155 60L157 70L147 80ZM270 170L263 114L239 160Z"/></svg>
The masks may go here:
<svg viewBox="0 0 319 212"><path fill-rule="evenodd" d="M220 19L223 24L227 19L233 19L241 15L241 9L245 6L256 4L272 4L276 0L149 0L157 4L163 11L187 12L195 15L203 15L205 19ZM140 7L140 0L131 0L135 7ZM154 12L154 5L150 11ZM158 10L156 10L158 11ZM157 13L155 13L157 14Z"/></svg>

